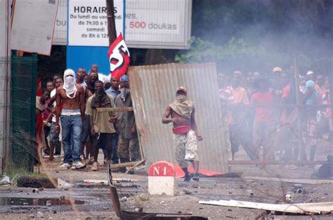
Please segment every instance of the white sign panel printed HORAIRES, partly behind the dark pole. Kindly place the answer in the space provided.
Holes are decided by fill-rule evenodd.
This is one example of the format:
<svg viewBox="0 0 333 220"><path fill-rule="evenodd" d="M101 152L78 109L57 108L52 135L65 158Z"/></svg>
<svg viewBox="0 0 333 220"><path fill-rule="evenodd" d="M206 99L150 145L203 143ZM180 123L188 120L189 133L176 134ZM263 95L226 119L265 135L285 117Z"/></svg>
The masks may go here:
<svg viewBox="0 0 333 220"><path fill-rule="evenodd" d="M124 2L114 0L117 34L123 32ZM105 0L68 1L68 45L109 46Z"/></svg>

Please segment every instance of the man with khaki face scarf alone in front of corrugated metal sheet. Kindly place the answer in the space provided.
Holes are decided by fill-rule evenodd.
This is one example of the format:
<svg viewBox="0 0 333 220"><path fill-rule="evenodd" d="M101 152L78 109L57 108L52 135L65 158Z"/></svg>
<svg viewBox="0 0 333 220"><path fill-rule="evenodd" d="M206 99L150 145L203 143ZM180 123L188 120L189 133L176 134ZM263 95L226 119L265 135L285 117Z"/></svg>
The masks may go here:
<svg viewBox="0 0 333 220"><path fill-rule="evenodd" d="M171 118L169 118L171 116ZM199 181L199 156L197 155L197 141L202 137L195 123L195 108L193 102L188 100L187 91L179 87L176 91L176 100L166 107L162 123L174 124L174 145L176 149L176 161L185 172L184 181L191 178ZM188 160L192 163L194 174L188 172Z"/></svg>

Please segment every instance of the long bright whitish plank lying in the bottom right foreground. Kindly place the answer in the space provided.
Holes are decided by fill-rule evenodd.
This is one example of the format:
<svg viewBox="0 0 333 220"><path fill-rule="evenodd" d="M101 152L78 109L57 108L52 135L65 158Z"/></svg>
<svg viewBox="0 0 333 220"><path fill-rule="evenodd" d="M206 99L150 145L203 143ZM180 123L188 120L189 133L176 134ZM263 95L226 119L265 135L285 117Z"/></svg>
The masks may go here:
<svg viewBox="0 0 333 220"><path fill-rule="evenodd" d="M262 209L275 212L289 213L324 213L331 212L333 202L295 203L295 204L270 204L262 202L247 202L239 200L209 200L199 201L200 204L221 205L227 207L243 207L250 209Z"/></svg>

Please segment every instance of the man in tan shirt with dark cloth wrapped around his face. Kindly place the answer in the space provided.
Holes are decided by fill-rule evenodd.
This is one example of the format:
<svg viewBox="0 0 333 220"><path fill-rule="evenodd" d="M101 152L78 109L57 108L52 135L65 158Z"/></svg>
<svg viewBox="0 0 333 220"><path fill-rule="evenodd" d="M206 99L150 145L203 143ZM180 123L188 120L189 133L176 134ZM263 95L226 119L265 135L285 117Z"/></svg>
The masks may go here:
<svg viewBox="0 0 333 220"><path fill-rule="evenodd" d="M116 130L113 125L117 120L115 112L98 112L96 108L115 107L112 95L105 93L103 82L95 82L95 94L89 97L86 103L86 112L89 114L91 124L91 135L93 137L93 166L91 171L98 170L98 149L107 151L107 160L112 156L112 139Z"/></svg>

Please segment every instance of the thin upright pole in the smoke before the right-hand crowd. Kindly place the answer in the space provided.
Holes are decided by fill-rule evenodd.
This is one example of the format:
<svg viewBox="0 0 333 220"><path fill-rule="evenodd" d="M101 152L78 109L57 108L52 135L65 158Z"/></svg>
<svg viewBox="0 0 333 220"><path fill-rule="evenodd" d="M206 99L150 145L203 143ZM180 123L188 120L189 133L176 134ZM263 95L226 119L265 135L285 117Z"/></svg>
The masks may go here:
<svg viewBox="0 0 333 220"><path fill-rule="evenodd" d="M297 130L299 139L299 160L306 160L306 153L303 144L302 132L302 117L301 117L301 97L299 96L299 67L297 65L297 57L294 60L294 77L295 77L295 92L296 92L296 106L297 106Z"/></svg>

